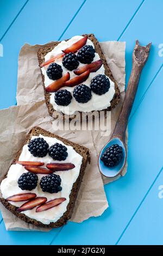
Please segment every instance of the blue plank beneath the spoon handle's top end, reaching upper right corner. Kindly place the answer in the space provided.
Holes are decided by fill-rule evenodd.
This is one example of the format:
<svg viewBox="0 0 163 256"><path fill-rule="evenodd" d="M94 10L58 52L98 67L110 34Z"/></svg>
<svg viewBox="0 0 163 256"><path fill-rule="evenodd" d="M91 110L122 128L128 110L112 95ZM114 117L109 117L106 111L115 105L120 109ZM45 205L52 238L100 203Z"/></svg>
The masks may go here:
<svg viewBox="0 0 163 256"><path fill-rule="evenodd" d="M139 12L131 21L120 40L127 42L126 51L126 78L128 81L131 70L131 52L134 48L135 39L139 39L142 45L152 41L152 48L149 55L148 63L143 69L143 77L140 79L139 88L137 90L133 110L135 112L137 106L141 102L142 96L146 93L147 88L155 77L155 74L163 64L163 54L159 56L159 45L163 42L163 35L160 33L160 24L162 21L162 1L158 0L154 4L152 0L145 1ZM152 19L151 19L152 17Z"/></svg>

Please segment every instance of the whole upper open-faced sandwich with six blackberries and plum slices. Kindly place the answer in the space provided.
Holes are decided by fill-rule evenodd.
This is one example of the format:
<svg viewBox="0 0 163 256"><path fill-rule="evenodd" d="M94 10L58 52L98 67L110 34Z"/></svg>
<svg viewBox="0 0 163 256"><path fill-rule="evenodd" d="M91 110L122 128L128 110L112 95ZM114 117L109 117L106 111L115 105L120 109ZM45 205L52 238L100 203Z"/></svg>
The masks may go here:
<svg viewBox="0 0 163 256"><path fill-rule="evenodd" d="M118 104L118 85L93 34L53 42L37 56L51 116L55 111L73 115L111 110Z"/></svg>

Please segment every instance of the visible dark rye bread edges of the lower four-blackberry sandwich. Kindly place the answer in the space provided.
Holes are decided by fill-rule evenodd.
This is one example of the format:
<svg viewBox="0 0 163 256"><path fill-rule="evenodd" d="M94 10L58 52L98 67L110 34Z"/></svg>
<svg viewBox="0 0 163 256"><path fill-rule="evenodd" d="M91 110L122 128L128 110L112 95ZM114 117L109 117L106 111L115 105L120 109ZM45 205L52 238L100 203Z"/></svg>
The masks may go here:
<svg viewBox="0 0 163 256"><path fill-rule="evenodd" d="M80 167L80 173L78 176L78 179L76 180L76 182L74 182L72 190L71 190L71 194L70 194L70 202L67 205L67 210L64 213L64 215L62 215L60 217L60 219L57 222L51 222L50 224L46 225L43 224L42 222L36 221L32 218L27 217L24 214L21 214L20 212L16 211L16 206L10 204L7 200L5 200L4 198L0 197L0 201L1 203L5 206L5 208L7 208L9 211L12 212L12 214L16 215L17 217L21 218L21 220L27 222L27 223L31 223L36 225L37 227L44 227L44 228L58 228L61 227L62 225L66 224L66 222L71 218L72 212L73 212L73 208L74 208L74 204L76 202L76 198L77 198L77 194L79 191L79 187L80 184L82 182L83 179L83 175L85 172L85 168L86 168L86 164L88 161L90 161L90 155L89 155L89 149L85 148L84 146L80 146L79 144L73 143L71 141L68 141L67 139L64 139L58 135L55 135L54 133L48 132L40 127L33 127L32 130L30 130L30 132L28 133L27 137L26 137L26 141L24 141L24 144L29 143L30 138L32 136L39 136L39 135L43 135L43 136L47 136L47 137L52 137L52 138L57 138L60 141L64 142L66 145L72 146L74 150L76 150L76 152L78 154L80 154L81 156L83 156L83 161L82 161L82 166ZM15 161L18 160L18 158L20 157L22 152L22 148L18 151L14 161L12 162L12 164L15 163ZM7 176L7 174L2 178L2 180ZM0 184L2 182L2 180L0 181ZM48 211L47 211L48 214Z"/></svg>

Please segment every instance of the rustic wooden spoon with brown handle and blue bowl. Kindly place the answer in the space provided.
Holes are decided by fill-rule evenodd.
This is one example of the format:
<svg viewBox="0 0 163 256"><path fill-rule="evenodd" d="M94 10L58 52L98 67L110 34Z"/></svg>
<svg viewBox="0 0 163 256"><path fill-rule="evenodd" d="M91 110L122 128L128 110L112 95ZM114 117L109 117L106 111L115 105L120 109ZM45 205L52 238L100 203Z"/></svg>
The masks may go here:
<svg viewBox="0 0 163 256"><path fill-rule="evenodd" d="M125 143L125 136L126 136L126 128L128 124L128 118L133 107L137 86L139 84L139 79L141 75L141 71L145 66L149 51L151 48L151 44L149 43L147 46L141 46L139 41L136 40L136 45L133 51L133 66L127 86L126 95L124 97L124 102L122 106L121 113L118 117L114 132L111 135L109 142L105 144L101 153L98 157L98 166L100 172L109 178L116 177L118 175L122 175L122 170L127 161L127 150L126 150L126 143ZM123 159L122 161L115 167L106 167L101 160L101 156L103 155L106 148L109 148L113 144L118 144L123 148Z"/></svg>

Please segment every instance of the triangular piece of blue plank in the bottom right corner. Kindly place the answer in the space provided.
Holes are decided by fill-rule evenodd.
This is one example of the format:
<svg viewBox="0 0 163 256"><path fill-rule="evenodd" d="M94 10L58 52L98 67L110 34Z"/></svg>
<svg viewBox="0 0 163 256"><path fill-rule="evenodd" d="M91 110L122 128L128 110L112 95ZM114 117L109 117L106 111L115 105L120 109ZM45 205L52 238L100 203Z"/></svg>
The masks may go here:
<svg viewBox="0 0 163 256"><path fill-rule="evenodd" d="M159 174L160 173L160 174ZM118 245L162 245L163 170Z"/></svg>

